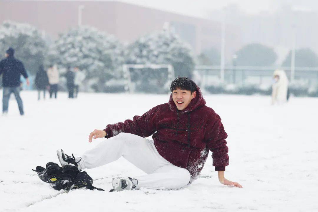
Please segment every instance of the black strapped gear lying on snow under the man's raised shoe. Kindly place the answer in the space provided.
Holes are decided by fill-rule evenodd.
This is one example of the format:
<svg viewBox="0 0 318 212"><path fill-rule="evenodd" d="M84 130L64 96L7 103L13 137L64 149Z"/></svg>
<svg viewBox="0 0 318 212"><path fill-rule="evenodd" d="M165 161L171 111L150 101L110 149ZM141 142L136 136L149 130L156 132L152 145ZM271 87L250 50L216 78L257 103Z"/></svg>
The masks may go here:
<svg viewBox="0 0 318 212"><path fill-rule="evenodd" d="M32 169L38 174L38 177L47 183L55 190L71 190L86 187L89 190L97 189L104 191L101 188L94 187L93 179L86 173L86 171L80 172L74 166L60 167L58 164L48 162L44 167L37 166L36 169Z"/></svg>

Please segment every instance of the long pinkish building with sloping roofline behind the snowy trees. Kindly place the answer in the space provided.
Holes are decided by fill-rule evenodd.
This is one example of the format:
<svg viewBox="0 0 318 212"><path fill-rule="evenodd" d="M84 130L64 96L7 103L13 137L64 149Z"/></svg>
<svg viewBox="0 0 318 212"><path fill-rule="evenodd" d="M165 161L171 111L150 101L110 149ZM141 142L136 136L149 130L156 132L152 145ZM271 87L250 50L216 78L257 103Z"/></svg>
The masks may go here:
<svg viewBox="0 0 318 212"><path fill-rule="evenodd" d="M4 20L29 23L47 36L55 39L59 33L78 25L79 7L83 25L90 25L113 34L124 43L133 42L142 35L159 31L165 23L189 43L195 54L208 48L221 48L221 23L188 17L171 12L146 8L116 1L19 1L2 0L0 23ZM240 47L240 38L234 30L229 37L226 51L231 58Z"/></svg>

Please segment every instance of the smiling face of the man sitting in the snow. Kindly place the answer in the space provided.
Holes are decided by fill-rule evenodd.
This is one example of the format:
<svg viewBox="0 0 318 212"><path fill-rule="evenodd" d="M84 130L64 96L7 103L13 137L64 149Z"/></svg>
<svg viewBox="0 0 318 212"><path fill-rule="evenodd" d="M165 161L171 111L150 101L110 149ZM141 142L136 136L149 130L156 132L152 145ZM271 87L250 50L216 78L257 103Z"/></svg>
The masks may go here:
<svg viewBox="0 0 318 212"><path fill-rule="evenodd" d="M197 92L193 92L188 90L181 90L176 88L176 90L172 91L172 99L175 102L178 110L184 110L197 95Z"/></svg>

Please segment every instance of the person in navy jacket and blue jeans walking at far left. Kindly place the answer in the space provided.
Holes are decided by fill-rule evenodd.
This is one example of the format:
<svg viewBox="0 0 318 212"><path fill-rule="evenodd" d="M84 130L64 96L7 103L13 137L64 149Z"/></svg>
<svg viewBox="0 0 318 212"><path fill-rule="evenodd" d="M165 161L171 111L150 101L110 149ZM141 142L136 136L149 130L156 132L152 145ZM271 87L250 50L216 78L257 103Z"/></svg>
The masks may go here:
<svg viewBox="0 0 318 212"><path fill-rule="evenodd" d="M24 115L23 102L20 97L20 77L22 74L26 79L27 85L30 85L28 74L25 71L23 63L14 58L14 49L9 48L6 51L5 57L5 59L0 61L0 75L3 73L2 113L4 115L8 113L10 95L13 93L17 100L20 114Z"/></svg>

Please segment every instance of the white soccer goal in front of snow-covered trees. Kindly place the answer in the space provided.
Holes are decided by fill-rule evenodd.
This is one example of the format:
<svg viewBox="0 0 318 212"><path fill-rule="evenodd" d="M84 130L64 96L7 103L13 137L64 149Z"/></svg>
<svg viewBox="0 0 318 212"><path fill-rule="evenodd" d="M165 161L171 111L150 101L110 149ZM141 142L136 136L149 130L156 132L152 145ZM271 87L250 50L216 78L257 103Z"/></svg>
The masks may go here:
<svg viewBox="0 0 318 212"><path fill-rule="evenodd" d="M134 86L134 82L138 81L136 80L135 76L132 76L132 71L136 73L136 71L139 71L140 76L144 76L147 74L147 70L149 72L150 70L155 70L157 73L162 72L162 69L166 69L166 82L169 81L169 83L174 80L175 73L172 65L167 64L124 64L123 65L123 75L125 80L125 91L128 93L133 93L136 90L136 86ZM162 72L163 73L163 72ZM138 78L138 77L137 77ZM149 83L151 80L162 80L162 79L156 79L156 78L162 78L162 76L155 76L153 75L153 78L148 75L148 81L143 83ZM142 79L139 79L142 80Z"/></svg>

